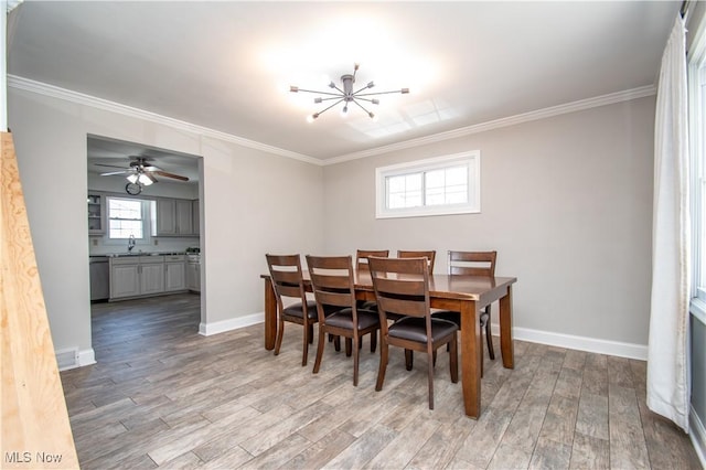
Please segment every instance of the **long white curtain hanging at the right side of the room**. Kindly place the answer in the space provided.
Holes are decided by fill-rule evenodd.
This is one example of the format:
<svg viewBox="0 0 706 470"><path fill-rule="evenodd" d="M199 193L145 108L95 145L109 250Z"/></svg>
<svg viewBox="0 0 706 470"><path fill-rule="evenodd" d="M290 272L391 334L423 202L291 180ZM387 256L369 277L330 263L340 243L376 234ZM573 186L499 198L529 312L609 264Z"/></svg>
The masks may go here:
<svg viewBox="0 0 706 470"><path fill-rule="evenodd" d="M685 33L684 20L677 15L662 56L657 87L648 407L688 432L691 217Z"/></svg>

